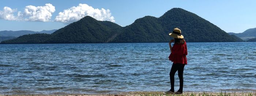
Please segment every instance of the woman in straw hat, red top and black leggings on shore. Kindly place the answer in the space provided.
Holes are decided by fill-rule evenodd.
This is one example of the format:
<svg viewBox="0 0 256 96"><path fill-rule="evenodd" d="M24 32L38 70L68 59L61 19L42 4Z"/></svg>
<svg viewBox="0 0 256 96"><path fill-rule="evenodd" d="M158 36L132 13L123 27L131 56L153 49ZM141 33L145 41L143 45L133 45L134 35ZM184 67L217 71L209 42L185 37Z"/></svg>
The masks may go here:
<svg viewBox="0 0 256 96"><path fill-rule="evenodd" d="M183 71L184 67L187 64L187 44L181 35L181 30L174 28L173 32L169 34L170 37L173 37L174 40L170 40L169 47L171 54L169 55L169 60L173 62L171 71L170 71L170 81L171 89L165 93L174 93L181 94L183 92ZM171 43L174 41L173 47ZM177 92L174 92L174 75L178 71L178 77L180 79L180 89Z"/></svg>

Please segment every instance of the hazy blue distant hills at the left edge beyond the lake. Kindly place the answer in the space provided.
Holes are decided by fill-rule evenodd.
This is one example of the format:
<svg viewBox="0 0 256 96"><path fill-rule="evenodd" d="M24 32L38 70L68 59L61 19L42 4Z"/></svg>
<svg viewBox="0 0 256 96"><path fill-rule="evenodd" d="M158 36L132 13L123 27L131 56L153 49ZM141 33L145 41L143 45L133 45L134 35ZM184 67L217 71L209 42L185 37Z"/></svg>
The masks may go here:
<svg viewBox="0 0 256 96"><path fill-rule="evenodd" d="M43 30L40 32L37 31L29 31L29 30L20 30L20 31L0 31L0 36L1 37L19 37L22 35L27 35L27 34L37 34L37 33L46 33L46 34L52 34L56 30Z"/></svg>

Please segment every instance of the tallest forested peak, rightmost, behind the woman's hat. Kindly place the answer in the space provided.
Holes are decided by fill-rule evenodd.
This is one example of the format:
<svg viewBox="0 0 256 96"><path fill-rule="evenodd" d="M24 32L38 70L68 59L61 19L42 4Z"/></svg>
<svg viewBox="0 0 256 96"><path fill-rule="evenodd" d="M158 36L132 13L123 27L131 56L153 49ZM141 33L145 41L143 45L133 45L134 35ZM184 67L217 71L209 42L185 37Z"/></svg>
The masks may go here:
<svg viewBox="0 0 256 96"><path fill-rule="evenodd" d="M187 42L237 42L225 31L209 21L181 8L173 8L159 17L165 32L172 32L176 27L181 29Z"/></svg>

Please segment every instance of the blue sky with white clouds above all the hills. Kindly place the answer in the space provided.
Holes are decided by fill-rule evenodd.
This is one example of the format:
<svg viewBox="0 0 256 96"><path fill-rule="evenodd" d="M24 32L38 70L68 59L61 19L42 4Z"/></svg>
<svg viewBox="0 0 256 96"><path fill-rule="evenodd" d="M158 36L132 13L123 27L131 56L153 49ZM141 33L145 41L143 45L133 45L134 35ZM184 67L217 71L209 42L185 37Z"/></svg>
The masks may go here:
<svg viewBox="0 0 256 96"><path fill-rule="evenodd" d="M53 30L84 16L128 26L182 8L226 32L256 28L256 0L1 0L0 31Z"/></svg>

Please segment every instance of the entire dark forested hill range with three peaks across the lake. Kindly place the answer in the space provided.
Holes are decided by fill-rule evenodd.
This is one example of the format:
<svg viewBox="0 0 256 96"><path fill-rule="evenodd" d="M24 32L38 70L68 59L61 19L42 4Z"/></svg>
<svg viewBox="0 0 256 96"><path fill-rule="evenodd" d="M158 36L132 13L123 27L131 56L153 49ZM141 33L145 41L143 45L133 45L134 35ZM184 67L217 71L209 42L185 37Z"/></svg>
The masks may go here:
<svg viewBox="0 0 256 96"><path fill-rule="evenodd" d="M2 41L10 43L135 43L169 42L169 33L180 28L187 42L241 42L207 20L181 8L173 8L159 18L145 16L129 26L121 27L108 21L98 21L90 16L71 23L51 35L26 35ZM37 37L44 37L38 41ZM31 38L33 37L33 38ZM27 39L26 39L27 38ZM20 42L22 41L22 42ZM33 41L33 42L32 42ZM34 42L38 41L38 42Z"/></svg>

